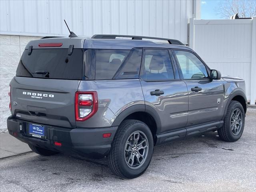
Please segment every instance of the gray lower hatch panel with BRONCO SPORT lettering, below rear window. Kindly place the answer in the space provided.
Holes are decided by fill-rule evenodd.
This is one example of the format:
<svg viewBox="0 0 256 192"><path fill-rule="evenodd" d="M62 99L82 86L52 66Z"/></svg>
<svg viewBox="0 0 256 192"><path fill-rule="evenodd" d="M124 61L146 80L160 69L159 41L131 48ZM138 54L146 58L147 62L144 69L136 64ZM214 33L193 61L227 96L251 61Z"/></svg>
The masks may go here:
<svg viewBox="0 0 256 192"><path fill-rule="evenodd" d="M38 124L75 128L74 96L79 82L14 77L11 82L12 113L16 118Z"/></svg>

